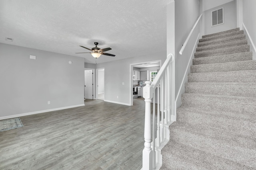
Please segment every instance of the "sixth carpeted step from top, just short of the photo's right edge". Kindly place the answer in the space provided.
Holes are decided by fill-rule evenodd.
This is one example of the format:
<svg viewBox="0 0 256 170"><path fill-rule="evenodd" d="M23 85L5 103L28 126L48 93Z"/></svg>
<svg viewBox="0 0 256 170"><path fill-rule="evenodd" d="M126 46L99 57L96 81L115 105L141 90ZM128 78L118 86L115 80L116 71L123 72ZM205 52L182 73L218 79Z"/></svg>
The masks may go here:
<svg viewBox="0 0 256 170"><path fill-rule="evenodd" d="M229 63L229 62L247 61L247 60L252 60L252 52L235 53L235 54L219 55L219 56L211 56L211 57L200 57L197 59L193 59L193 65Z"/></svg>

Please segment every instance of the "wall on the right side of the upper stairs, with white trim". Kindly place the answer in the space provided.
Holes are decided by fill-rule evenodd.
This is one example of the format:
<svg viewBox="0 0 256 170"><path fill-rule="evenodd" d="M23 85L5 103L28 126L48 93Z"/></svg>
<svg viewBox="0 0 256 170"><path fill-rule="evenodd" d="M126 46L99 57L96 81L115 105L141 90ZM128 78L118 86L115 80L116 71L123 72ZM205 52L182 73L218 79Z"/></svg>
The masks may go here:
<svg viewBox="0 0 256 170"><path fill-rule="evenodd" d="M256 60L256 0L244 0L243 1L243 23L250 35L251 41L245 31L246 38L250 44L250 51L253 51L253 59ZM254 48L253 48L253 45Z"/></svg>

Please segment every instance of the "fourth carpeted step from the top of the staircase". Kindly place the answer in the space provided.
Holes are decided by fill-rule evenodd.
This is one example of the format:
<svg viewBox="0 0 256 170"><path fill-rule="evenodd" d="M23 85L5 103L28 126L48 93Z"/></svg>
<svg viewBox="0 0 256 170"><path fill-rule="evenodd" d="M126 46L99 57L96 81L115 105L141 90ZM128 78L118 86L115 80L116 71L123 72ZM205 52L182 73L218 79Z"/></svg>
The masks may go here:
<svg viewBox="0 0 256 170"><path fill-rule="evenodd" d="M240 45L247 45L247 39L239 40L239 41L232 41L228 43L216 44L216 45L209 45L206 47L198 47L196 48L196 52L200 51L209 51L214 49L224 49L227 47L236 47Z"/></svg>

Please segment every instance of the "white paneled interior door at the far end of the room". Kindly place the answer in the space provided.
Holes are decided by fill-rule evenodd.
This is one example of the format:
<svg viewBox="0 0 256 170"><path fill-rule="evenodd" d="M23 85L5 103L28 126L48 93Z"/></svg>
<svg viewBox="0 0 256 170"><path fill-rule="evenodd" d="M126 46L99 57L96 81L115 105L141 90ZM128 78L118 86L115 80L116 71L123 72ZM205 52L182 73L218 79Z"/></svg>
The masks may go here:
<svg viewBox="0 0 256 170"><path fill-rule="evenodd" d="M84 98L93 99L93 72L84 70Z"/></svg>

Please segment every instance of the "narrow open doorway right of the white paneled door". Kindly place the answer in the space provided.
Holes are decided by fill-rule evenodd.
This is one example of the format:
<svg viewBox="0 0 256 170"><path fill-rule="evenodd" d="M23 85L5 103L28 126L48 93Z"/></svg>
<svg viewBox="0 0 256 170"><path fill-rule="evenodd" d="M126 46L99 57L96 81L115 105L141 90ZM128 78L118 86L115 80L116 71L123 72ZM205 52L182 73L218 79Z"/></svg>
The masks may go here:
<svg viewBox="0 0 256 170"><path fill-rule="evenodd" d="M104 88L104 68L97 69L97 94L98 100L104 100L105 98L105 88Z"/></svg>

